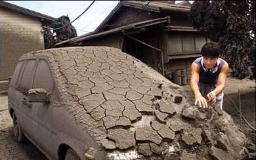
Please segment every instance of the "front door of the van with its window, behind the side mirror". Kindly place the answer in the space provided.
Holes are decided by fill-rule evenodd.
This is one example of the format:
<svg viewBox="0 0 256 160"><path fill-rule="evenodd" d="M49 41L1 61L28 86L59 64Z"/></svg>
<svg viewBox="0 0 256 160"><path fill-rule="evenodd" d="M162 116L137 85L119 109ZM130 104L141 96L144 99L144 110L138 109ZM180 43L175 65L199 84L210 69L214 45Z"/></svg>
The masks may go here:
<svg viewBox="0 0 256 160"><path fill-rule="evenodd" d="M33 119L37 121L37 126L34 128L36 141L46 155L55 157L56 148L58 148L58 134L53 127L53 116L58 98L49 64L44 58L39 59L33 79L33 89L45 89L51 95L50 103L32 102L32 107Z"/></svg>

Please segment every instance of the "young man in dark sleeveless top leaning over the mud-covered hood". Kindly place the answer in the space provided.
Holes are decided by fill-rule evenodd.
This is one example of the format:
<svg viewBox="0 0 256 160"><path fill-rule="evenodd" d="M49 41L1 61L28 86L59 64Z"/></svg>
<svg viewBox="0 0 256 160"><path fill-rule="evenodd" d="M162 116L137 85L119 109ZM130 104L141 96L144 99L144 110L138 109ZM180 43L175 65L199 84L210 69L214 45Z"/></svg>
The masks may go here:
<svg viewBox="0 0 256 160"><path fill-rule="evenodd" d="M219 43L205 43L201 54L202 57L191 65L190 87L195 95L195 105L208 108L208 104L216 103L222 109L228 63L219 58Z"/></svg>

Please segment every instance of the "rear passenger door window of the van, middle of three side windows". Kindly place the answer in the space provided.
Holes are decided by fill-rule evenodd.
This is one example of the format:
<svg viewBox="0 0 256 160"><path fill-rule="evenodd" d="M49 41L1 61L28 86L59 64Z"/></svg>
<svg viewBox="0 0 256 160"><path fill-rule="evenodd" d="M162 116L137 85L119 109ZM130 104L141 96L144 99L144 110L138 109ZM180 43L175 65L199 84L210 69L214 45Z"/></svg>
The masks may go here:
<svg viewBox="0 0 256 160"><path fill-rule="evenodd" d="M35 60L28 60L21 77L20 88L22 90L32 89L34 73L35 73Z"/></svg>

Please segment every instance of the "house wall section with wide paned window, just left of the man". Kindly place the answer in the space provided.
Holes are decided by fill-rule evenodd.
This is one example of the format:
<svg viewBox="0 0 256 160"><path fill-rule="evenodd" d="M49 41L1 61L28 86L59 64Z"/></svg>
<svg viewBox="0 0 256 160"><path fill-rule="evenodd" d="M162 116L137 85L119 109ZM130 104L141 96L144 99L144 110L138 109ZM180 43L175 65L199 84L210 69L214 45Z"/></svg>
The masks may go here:
<svg viewBox="0 0 256 160"><path fill-rule="evenodd" d="M188 84L191 76L190 66L201 56L201 48L209 39L194 31L165 31L162 37L165 75L178 85ZM182 76L181 72L184 73Z"/></svg>

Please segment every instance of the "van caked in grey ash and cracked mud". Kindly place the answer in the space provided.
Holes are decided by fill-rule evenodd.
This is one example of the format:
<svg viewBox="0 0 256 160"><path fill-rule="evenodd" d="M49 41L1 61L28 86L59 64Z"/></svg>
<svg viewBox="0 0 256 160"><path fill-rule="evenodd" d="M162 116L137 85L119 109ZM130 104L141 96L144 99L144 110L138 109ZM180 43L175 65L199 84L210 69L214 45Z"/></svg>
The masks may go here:
<svg viewBox="0 0 256 160"><path fill-rule="evenodd" d="M110 47L24 54L9 85L18 142L49 159L240 159L245 135L224 111ZM244 154L242 154L244 153Z"/></svg>

